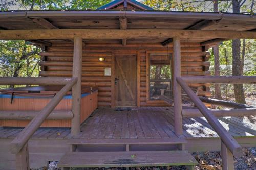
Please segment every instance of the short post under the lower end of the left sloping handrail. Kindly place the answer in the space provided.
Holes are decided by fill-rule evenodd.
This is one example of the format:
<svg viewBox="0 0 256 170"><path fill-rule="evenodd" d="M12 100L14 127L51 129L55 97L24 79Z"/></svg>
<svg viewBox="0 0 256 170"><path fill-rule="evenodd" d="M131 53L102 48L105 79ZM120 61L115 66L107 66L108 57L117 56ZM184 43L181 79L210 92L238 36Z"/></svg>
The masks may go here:
<svg viewBox="0 0 256 170"><path fill-rule="evenodd" d="M22 150L16 154L16 169L29 170L29 147L28 142Z"/></svg>

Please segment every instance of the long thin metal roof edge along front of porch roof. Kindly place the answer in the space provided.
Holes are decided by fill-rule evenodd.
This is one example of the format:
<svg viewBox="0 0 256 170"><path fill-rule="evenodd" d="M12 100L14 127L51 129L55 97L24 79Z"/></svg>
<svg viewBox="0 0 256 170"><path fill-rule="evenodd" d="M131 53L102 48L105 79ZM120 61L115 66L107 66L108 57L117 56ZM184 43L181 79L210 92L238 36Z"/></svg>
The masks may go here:
<svg viewBox="0 0 256 170"><path fill-rule="evenodd" d="M254 15L232 14L232 13L202 13L202 12L174 12L174 11L5 11L0 12L1 17L65 17L65 16L112 16L119 17L120 14L126 17L144 18L188 18L205 20L243 20L256 22Z"/></svg>

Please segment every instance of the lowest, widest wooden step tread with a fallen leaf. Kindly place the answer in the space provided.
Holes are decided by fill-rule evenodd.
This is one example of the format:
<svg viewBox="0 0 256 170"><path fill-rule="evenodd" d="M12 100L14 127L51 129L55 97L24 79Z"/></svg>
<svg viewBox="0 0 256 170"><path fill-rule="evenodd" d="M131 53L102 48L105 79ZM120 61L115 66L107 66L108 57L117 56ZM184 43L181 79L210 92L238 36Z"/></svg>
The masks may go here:
<svg viewBox="0 0 256 170"><path fill-rule="evenodd" d="M58 167L193 167L198 162L187 151L67 152Z"/></svg>

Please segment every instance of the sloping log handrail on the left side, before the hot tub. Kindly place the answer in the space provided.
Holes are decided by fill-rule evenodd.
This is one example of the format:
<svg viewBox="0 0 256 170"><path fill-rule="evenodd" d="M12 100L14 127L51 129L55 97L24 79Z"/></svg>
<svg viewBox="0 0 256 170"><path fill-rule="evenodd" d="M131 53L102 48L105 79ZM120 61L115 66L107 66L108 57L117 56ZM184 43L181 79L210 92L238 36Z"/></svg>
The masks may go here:
<svg viewBox="0 0 256 170"><path fill-rule="evenodd" d="M24 147L30 137L35 133L35 131L62 100L63 96L67 94L76 82L77 78L71 78L68 83L54 96L54 98L52 98L52 100L31 120L22 132L18 134L18 136L11 142L12 153L17 154Z"/></svg>

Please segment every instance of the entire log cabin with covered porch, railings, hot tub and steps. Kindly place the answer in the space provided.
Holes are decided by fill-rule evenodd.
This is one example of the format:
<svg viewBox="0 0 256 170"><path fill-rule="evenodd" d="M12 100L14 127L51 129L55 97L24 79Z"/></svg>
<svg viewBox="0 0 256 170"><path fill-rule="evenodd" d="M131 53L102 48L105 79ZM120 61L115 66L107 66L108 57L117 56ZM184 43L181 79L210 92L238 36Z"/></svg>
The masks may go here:
<svg viewBox="0 0 256 170"><path fill-rule="evenodd" d="M0 39L42 48L39 77L0 78L0 168L179 166L191 152L221 151L234 169L256 126L255 108L210 110L213 83L256 76L210 76L207 50L256 38L246 14L156 11L135 0L97 10L3 11ZM204 101L204 102L207 102ZM224 104L223 104L224 103ZM225 105L223 102L222 105Z"/></svg>

